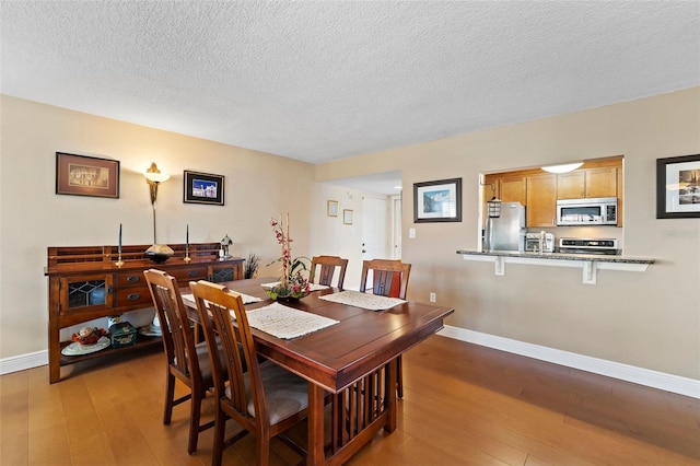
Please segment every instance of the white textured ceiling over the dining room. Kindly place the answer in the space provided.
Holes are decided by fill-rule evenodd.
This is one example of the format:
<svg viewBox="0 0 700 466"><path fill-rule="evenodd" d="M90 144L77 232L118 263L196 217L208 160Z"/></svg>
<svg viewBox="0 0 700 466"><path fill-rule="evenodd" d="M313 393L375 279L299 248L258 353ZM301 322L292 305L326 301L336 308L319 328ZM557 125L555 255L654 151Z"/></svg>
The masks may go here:
<svg viewBox="0 0 700 466"><path fill-rule="evenodd" d="M700 2L2 1L0 91L312 163L700 85Z"/></svg>

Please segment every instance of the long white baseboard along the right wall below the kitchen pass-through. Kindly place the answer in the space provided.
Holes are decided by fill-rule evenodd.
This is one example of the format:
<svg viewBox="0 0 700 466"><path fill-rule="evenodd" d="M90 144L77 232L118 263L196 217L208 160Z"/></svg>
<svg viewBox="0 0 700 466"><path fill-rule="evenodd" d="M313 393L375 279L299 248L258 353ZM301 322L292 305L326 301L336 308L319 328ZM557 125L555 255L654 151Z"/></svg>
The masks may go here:
<svg viewBox="0 0 700 466"><path fill-rule="evenodd" d="M700 381L696 381L693 378L651 371L649 369L606 361L604 359L591 358L588 356L561 351L541 347L539 345L526 343L523 341L512 340L510 338L497 337L494 335L481 334L479 331L467 330L465 328L453 327L450 325L445 325L438 335L525 356L527 358L552 362L555 364L565 365L572 369L580 369L582 371L593 372L594 374L619 378L652 388L700 398Z"/></svg>

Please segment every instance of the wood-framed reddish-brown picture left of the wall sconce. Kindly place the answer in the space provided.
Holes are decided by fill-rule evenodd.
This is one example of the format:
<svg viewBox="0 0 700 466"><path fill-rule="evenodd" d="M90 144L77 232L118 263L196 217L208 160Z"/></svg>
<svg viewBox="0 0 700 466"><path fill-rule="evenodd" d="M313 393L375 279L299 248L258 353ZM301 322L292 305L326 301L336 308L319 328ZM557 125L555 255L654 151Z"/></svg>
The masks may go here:
<svg viewBox="0 0 700 466"><path fill-rule="evenodd" d="M119 198L119 161L56 152L56 194Z"/></svg>

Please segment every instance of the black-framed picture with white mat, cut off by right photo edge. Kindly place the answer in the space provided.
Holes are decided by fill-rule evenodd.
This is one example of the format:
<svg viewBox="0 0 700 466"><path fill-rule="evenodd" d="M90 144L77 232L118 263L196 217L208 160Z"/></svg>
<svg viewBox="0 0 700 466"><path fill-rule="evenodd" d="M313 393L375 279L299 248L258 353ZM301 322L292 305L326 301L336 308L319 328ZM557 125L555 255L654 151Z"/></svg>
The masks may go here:
<svg viewBox="0 0 700 466"><path fill-rule="evenodd" d="M700 217L700 154L656 159L656 218Z"/></svg>

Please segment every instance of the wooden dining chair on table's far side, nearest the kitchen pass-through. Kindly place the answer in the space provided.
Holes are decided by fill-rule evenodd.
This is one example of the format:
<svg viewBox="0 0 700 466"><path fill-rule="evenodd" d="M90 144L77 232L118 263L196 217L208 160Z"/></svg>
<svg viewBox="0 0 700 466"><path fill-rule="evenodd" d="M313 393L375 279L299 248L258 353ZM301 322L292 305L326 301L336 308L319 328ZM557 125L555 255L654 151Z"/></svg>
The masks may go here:
<svg viewBox="0 0 700 466"><path fill-rule="evenodd" d="M372 272L372 273L370 273ZM382 296L406 299L408 278L411 273L411 265L400 260L372 259L362 261L362 275L360 276L360 291L372 292ZM371 286L368 281L372 278ZM396 392L399 399L404 398L404 370L401 357L396 359L397 380Z"/></svg>

